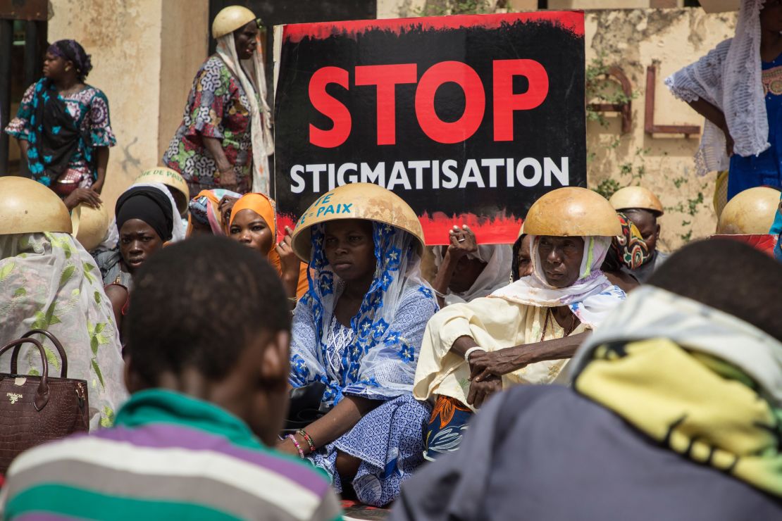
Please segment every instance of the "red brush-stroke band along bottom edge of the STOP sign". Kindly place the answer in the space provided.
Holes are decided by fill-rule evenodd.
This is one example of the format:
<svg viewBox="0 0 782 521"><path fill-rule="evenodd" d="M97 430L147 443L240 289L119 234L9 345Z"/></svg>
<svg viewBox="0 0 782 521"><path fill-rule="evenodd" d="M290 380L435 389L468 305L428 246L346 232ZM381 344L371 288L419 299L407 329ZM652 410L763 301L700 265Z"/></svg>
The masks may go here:
<svg viewBox="0 0 782 521"><path fill-rule="evenodd" d="M421 227L424 228L426 244L436 246L448 244L448 231L454 226L466 224L475 233L479 244L513 244L522 228L522 219L514 216L479 217L473 213L462 213L458 216L447 216L443 212L428 213L419 216ZM278 214L278 241L282 241L285 227L293 228L296 219L292 216ZM282 233L281 233L282 232Z"/></svg>

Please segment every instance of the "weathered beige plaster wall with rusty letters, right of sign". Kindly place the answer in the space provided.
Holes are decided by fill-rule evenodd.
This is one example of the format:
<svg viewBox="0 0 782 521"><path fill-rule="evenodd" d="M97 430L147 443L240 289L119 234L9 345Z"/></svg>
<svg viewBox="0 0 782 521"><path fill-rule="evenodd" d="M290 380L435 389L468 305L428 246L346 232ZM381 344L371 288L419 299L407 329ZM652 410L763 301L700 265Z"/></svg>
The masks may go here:
<svg viewBox="0 0 782 521"><path fill-rule="evenodd" d="M731 37L734 27L734 13L707 15L702 9L587 11L587 63L603 55L605 64L622 67L637 93L630 133L620 134L618 116L608 116L608 128L597 122L587 124L587 151L593 155L589 183L597 187L611 177L622 186L641 184L655 191L669 208L662 217L664 249L714 232L716 174L697 177L694 173L692 158L699 136L644 133L647 66L657 64L655 123L693 124L702 129L701 116L673 98L663 80ZM622 173L628 168L632 173Z"/></svg>

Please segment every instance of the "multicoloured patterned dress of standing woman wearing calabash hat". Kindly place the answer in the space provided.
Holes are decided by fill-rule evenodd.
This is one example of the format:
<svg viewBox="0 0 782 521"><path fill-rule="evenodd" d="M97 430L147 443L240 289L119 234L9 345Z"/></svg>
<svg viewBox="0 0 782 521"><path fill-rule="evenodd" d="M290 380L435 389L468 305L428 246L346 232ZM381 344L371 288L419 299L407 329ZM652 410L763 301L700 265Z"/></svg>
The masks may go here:
<svg viewBox="0 0 782 521"><path fill-rule="evenodd" d="M234 166L239 192L252 183L253 143L249 98L223 60L213 55L195 74L182 123L163 154L163 163L181 173L191 186L191 196L217 188L217 162L203 145L203 137L215 137Z"/></svg>

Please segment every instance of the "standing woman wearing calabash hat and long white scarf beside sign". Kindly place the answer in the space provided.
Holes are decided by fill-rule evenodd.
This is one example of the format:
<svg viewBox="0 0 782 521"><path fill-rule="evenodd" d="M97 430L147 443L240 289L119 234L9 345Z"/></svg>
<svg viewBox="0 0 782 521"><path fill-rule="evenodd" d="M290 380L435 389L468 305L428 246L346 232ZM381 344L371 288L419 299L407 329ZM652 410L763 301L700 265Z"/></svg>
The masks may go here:
<svg viewBox="0 0 782 521"><path fill-rule="evenodd" d="M214 188L268 194L274 145L256 16L241 5L226 7L212 36L217 53L195 73L163 163L185 177L191 198Z"/></svg>

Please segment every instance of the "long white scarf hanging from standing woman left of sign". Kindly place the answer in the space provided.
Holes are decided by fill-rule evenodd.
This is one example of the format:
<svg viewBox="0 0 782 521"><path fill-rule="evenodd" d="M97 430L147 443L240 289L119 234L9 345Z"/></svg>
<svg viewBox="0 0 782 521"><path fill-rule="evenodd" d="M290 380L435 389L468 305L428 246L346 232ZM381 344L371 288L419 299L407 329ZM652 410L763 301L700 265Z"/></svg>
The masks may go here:
<svg viewBox="0 0 782 521"><path fill-rule="evenodd" d="M239 56L236 55L234 34L228 33L217 38L217 55L231 74L239 79L239 84L242 84L249 101L250 133L253 139L253 192L271 196L269 155L274 152L274 141L271 137L271 109L266 102L266 73L264 59L260 52L260 35L256 35L256 42L258 46L256 52L253 52L253 58L242 60L240 63Z"/></svg>

